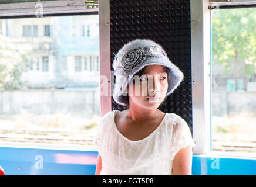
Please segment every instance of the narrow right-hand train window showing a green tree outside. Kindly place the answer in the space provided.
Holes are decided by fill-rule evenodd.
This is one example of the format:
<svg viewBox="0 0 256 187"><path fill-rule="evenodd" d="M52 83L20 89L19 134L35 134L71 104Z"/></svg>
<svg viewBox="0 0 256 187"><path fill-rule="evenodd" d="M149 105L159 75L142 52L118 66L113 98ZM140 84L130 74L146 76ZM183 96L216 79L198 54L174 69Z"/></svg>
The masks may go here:
<svg viewBox="0 0 256 187"><path fill-rule="evenodd" d="M256 8L211 10L212 150L256 154Z"/></svg>

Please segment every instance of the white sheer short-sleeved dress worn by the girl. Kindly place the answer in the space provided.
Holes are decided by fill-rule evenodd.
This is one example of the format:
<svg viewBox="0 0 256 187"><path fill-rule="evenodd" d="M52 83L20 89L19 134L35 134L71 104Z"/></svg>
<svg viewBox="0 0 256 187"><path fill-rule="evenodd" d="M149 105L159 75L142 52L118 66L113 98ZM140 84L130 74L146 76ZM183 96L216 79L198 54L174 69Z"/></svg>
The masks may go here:
<svg viewBox="0 0 256 187"><path fill-rule="evenodd" d="M100 175L171 175L176 153L194 141L187 123L166 113L156 130L142 140L124 137L116 127L112 110L100 118L95 144L102 157Z"/></svg>

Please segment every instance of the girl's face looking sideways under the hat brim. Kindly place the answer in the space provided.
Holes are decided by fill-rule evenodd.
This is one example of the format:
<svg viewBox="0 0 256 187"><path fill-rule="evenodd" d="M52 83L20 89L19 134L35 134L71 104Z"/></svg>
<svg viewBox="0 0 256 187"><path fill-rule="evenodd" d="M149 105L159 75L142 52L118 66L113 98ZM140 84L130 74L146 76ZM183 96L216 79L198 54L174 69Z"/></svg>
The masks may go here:
<svg viewBox="0 0 256 187"><path fill-rule="evenodd" d="M161 65L147 65L141 77L134 76L127 93L129 105L156 109L166 97L168 89L167 72Z"/></svg>

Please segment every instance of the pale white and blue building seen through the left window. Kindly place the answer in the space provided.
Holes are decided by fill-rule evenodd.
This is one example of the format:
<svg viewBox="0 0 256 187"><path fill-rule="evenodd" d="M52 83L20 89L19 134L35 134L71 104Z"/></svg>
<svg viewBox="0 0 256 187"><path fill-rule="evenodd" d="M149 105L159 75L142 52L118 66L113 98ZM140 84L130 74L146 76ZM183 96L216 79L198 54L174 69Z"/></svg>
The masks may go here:
<svg viewBox="0 0 256 187"><path fill-rule="evenodd" d="M97 15L0 20L0 34L31 49L30 88L99 86Z"/></svg>

